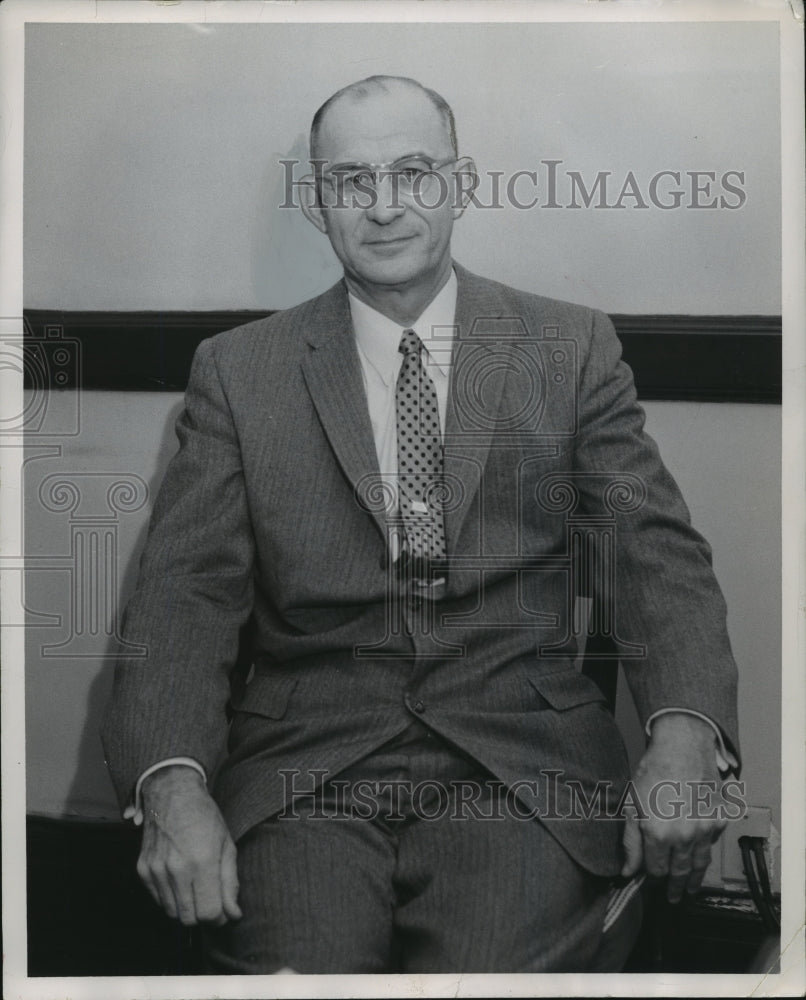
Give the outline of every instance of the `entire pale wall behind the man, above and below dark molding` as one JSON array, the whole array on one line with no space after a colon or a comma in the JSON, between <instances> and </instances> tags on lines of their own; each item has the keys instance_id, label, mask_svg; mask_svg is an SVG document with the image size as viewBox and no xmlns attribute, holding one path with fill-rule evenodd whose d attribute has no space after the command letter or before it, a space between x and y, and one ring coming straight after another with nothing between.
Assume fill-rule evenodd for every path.
<instances>
[{"instance_id":1,"label":"entire pale wall behind the man, above and below dark molding","mask_svg":"<svg viewBox=\"0 0 806 1000\"><path fill-rule=\"evenodd\" d=\"M329 93L384 71L418 76L448 97L462 150L482 170L537 170L541 206L545 159L579 171L589 186L611 171L620 187L632 170L644 191L663 169L744 171L746 201L735 210L469 211L455 238L467 266L613 312L776 314L775 31L760 24L29 26L26 306L277 308L326 287L338 276L329 248L298 213L276 207L278 161L304 156L307 122ZM82 482L94 492L81 514L98 519L104 491L121 476L149 486L144 506L104 514L103 530L116 533L108 579L124 601L175 446L180 399L55 394L54 426L69 424L77 400L80 429L60 439L60 454L28 454L25 532L29 554L42 563L28 573L26 603L62 616L60 625L27 635L28 807L111 816L97 739L111 670L97 653L109 644L98 633L78 655L43 649L69 635L76 512L46 509L38 491L59 472L91 473ZM777 813L780 411L653 403L647 412L695 524L713 544L728 599L748 798ZM637 753L641 738L627 703L619 714Z\"/></svg>"}]
</instances>

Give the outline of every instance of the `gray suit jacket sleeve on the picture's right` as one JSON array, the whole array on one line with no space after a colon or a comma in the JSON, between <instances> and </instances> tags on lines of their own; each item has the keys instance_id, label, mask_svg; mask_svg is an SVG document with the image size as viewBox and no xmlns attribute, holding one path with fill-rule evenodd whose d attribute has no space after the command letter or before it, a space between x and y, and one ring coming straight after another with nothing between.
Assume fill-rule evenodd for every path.
<instances>
[{"instance_id":1,"label":"gray suit jacket sleeve on the picture's right","mask_svg":"<svg viewBox=\"0 0 806 1000\"><path fill-rule=\"evenodd\" d=\"M644 431L632 372L603 313L593 313L579 385L575 467L583 506L615 518L614 593L604 596L612 600L617 638L645 647L643 657L621 658L638 713L644 723L662 709L702 713L738 759L737 670L711 550ZM625 503L612 503L618 488L611 494L611 508L623 511L603 510L607 479L627 484Z\"/></svg>"}]
</instances>

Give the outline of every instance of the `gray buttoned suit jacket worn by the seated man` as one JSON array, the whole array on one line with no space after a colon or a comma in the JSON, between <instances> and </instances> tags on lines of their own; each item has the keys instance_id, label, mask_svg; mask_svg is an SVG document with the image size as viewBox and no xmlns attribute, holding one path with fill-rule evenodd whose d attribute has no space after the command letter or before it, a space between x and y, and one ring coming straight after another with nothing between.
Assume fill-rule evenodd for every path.
<instances>
[{"instance_id":1,"label":"gray buttoned suit jacket worn by the seated man","mask_svg":"<svg viewBox=\"0 0 806 1000\"><path fill-rule=\"evenodd\" d=\"M282 807L281 770L301 784L335 774L416 712L503 781L535 782L524 802L548 809L581 864L614 874L618 823L568 818L575 794L606 786L612 806L628 777L604 699L573 664L572 566L593 544L603 627L641 717L692 708L738 752L710 551L643 432L612 324L456 270L450 570L413 637L400 618L422 609L390 597L344 283L199 346L123 623L148 657L121 655L103 727L121 803L156 761L191 756L212 774L226 744L214 794L237 840ZM248 620L254 677L228 724Z\"/></svg>"}]
</instances>

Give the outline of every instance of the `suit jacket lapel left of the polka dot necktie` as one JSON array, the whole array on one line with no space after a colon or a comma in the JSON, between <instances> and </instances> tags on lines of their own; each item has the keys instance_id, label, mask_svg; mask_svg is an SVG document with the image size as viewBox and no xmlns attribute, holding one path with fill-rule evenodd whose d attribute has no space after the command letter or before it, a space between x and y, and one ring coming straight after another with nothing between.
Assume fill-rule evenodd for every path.
<instances>
[{"instance_id":1,"label":"suit jacket lapel left of the polka dot necktie","mask_svg":"<svg viewBox=\"0 0 806 1000\"><path fill-rule=\"evenodd\" d=\"M322 297L305 336L310 353L302 371L308 392L339 465L385 539L378 456L343 282Z\"/></svg>"}]
</instances>

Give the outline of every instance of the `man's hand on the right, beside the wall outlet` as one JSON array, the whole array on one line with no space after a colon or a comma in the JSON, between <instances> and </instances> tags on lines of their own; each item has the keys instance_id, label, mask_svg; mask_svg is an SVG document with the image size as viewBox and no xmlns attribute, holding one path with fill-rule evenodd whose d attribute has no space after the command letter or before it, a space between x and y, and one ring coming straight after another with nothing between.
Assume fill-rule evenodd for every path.
<instances>
[{"instance_id":1,"label":"man's hand on the right, beside the wall outlet","mask_svg":"<svg viewBox=\"0 0 806 1000\"><path fill-rule=\"evenodd\" d=\"M621 874L634 875L643 862L649 875L668 875L676 903L699 889L726 826L713 728L684 712L658 716L632 780L642 813L627 817Z\"/></svg>"}]
</instances>

